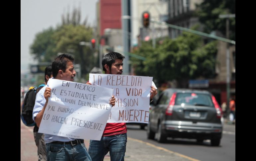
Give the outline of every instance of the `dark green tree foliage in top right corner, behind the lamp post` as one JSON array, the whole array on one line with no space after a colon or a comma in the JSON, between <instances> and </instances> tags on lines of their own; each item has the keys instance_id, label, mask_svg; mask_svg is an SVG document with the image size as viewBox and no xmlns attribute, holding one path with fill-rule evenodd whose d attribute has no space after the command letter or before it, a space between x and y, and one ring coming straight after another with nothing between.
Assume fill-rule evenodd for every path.
<instances>
[{"instance_id":1,"label":"dark green tree foliage in top right corner, behind the lamp post","mask_svg":"<svg viewBox=\"0 0 256 161\"><path fill-rule=\"evenodd\" d=\"M218 30L226 35L226 20L221 14L235 14L235 0L204 0L197 6L199 21L204 24L204 32ZM229 19L229 39L235 40L235 18Z\"/></svg>"}]
</instances>

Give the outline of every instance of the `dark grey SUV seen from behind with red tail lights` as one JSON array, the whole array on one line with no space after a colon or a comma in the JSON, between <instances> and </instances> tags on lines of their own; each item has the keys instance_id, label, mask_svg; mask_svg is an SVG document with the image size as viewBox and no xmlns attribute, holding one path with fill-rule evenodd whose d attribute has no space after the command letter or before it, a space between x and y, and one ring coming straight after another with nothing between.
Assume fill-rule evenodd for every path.
<instances>
[{"instance_id":1,"label":"dark grey SUV seen from behind with red tail lights","mask_svg":"<svg viewBox=\"0 0 256 161\"><path fill-rule=\"evenodd\" d=\"M147 137L165 142L167 137L211 140L219 146L222 111L215 97L205 90L164 90L149 115Z\"/></svg>"}]
</instances>

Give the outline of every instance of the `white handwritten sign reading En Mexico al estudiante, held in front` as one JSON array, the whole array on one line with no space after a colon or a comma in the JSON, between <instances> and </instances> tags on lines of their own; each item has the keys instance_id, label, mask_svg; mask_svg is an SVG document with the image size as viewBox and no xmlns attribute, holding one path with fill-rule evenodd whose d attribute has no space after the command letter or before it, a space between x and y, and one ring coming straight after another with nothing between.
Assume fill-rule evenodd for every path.
<instances>
[{"instance_id":1,"label":"white handwritten sign reading En Mexico al estudiante, held in front","mask_svg":"<svg viewBox=\"0 0 256 161\"><path fill-rule=\"evenodd\" d=\"M83 83L49 79L51 97L40 133L100 140L111 111L113 90Z\"/></svg>"}]
</instances>

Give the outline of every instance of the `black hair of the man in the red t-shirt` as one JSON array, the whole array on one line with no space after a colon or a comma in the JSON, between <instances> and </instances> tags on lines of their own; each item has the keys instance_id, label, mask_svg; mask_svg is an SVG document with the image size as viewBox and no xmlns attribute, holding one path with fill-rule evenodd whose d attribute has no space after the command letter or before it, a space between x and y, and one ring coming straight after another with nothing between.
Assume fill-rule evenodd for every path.
<instances>
[{"instance_id":1,"label":"black hair of the man in the red t-shirt","mask_svg":"<svg viewBox=\"0 0 256 161\"><path fill-rule=\"evenodd\" d=\"M104 67L105 64L107 64L107 66L109 66L109 68L111 69L111 65L116 61L116 59L124 60L124 58L125 56L123 56L119 52L110 52L106 54L102 58L101 62L103 70L106 71L106 68Z\"/></svg>"}]
</instances>

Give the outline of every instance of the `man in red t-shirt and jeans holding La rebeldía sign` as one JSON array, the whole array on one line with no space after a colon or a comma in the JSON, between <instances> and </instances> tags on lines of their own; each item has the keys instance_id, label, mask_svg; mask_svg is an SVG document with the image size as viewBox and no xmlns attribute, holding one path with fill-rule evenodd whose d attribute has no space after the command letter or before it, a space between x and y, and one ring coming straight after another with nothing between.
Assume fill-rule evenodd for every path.
<instances>
[{"instance_id":1,"label":"man in red t-shirt and jeans holding La rebeld\u00eda sign","mask_svg":"<svg viewBox=\"0 0 256 161\"><path fill-rule=\"evenodd\" d=\"M102 59L102 67L105 74L122 74L123 59L125 57L118 52L110 52ZM151 86L150 99L157 94L154 86ZM111 161L124 161L127 142L126 123L107 123L101 140L90 140L89 154L92 161L103 161L104 156L110 154Z\"/></svg>"}]
</instances>

